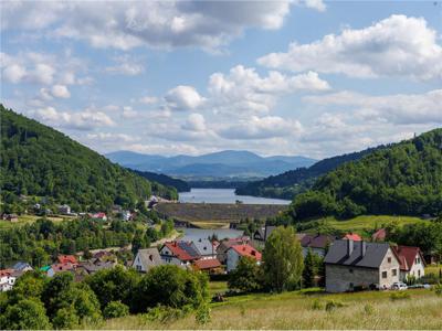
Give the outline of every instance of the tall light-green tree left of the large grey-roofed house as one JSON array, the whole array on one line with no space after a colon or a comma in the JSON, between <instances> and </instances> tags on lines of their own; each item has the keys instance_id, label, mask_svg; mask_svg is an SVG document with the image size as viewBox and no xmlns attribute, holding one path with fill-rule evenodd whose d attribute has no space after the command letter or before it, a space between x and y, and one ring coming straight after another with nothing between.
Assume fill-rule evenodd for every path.
<instances>
[{"instance_id":1,"label":"tall light-green tree left of the large grey-roofed house","mask_svg":"<svg viewBox=\"0 0 442 331\"><path fill-rule=\"evenodd\" d=\"M303 268L303 250L293 227L276 227L265 243L263 253L266 287L277 292L297 287Z\"/></svg>"}]
</instances>

